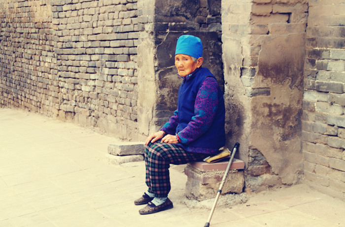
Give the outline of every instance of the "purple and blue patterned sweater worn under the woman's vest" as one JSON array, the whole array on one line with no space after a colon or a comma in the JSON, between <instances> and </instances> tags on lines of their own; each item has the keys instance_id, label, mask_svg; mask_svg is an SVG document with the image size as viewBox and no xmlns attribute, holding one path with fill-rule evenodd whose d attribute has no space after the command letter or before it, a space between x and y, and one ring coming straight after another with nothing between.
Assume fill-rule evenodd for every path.
<instances>
[{"instance_id":1,"label":"purple and blue patterned sweater worn under the woman's vest","mask_svg":"<svg viewBox=\"0 0 345 227\"><path fill-rule=\"evenodd\" d=\"M183 80L189 80L190 75L186 76ZM215 111L218 107L218 91L217 81L212 77L207 77L201 85L194 105L195 115L192 120L188 123L177 136L181 143L178 145L182 146L185 150L195 153L205 154L216 154L219 147L215 148L204 148L204 147L191 147L188 143L195 141L205 132L206 128L212 125ZM203 114L200 114L203 113ZM169 121L162 127L161 130L167 134L174 135L178 124L178 110L176 110Z\"/></svg>"}]
</instances>

